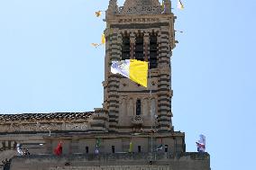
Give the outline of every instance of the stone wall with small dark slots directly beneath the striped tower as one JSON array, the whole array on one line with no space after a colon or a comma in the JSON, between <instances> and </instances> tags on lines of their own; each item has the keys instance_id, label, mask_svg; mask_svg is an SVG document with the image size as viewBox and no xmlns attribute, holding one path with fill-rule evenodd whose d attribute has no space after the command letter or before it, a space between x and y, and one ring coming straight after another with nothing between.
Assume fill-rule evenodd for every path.
<instances>
[{"instance_id":1,"label":"stone wall with small dark slots directly beneath the striped tower","mask_svg":"<svg viewBox=\"0 0 256 170\"><path fill-rule=\"evenodd\" d=\"M185 134L181 132L153 134L152 148L155 150L160 146L160 144L162 144L164 148L168 149L168 152L186 152L184 136ZM95 153L96 149L96 139L101 139L99 148L100 153L112 153L112 148L114 148L114 152L128 152L130 142L133 143L133 152L151 152L150 133L142 133L137 135L105 133L87 134L84 136L73 134L72 136L52 136L45 137L44 139L46 143L45 147L47 148L46 153L52 153L52 150L56 148L61 140L63 154L87 153L86 148L88 149L89 154L93 154ZM141 148L141 150L139 151L138 148ZM165 149L162 149L159 152L165 152Z\"/></svg>"}]
</instances>

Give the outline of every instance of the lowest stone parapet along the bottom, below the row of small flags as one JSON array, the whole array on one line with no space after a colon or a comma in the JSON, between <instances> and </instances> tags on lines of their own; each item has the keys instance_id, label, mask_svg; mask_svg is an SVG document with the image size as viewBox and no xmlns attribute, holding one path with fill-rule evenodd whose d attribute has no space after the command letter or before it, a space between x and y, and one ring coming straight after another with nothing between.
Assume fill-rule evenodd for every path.
<instances>
[{"instance_id":1,"label":"lowest stone parapet along the bottom, below the row of small flags","mask_svg":"<svg viewBox=\"0 0 256 170\"><path fill-rule=\"evenodd\" d=\"M96 170L96 169L171 169L210 170L210 156L207 153L128 153L89 154L67 157L30 156L14 157L11 170Z\"/></svg>"}]
</instances>

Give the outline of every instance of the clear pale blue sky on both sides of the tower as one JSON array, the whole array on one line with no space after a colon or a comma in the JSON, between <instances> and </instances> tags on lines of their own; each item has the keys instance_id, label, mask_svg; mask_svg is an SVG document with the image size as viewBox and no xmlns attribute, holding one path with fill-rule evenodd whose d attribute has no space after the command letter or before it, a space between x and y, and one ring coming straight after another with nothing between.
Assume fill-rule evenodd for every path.
<instances>
[{"instance_id":1,"label":"clear pale blue sky on both sides of the tower","mask_svg":"<svg viewBox=\"0 0 256 170\"><path fill-rule=\"evenodd\" d=\"M123 5L123 1L118 1ZM177 1L172 1L176 6ZM183 1L172 57L175 130L206 135L213 170L253 169L256 2ZM103 103L107 0L0 0L0 113L84 112Z\"/></svg>"}]
</instances>

